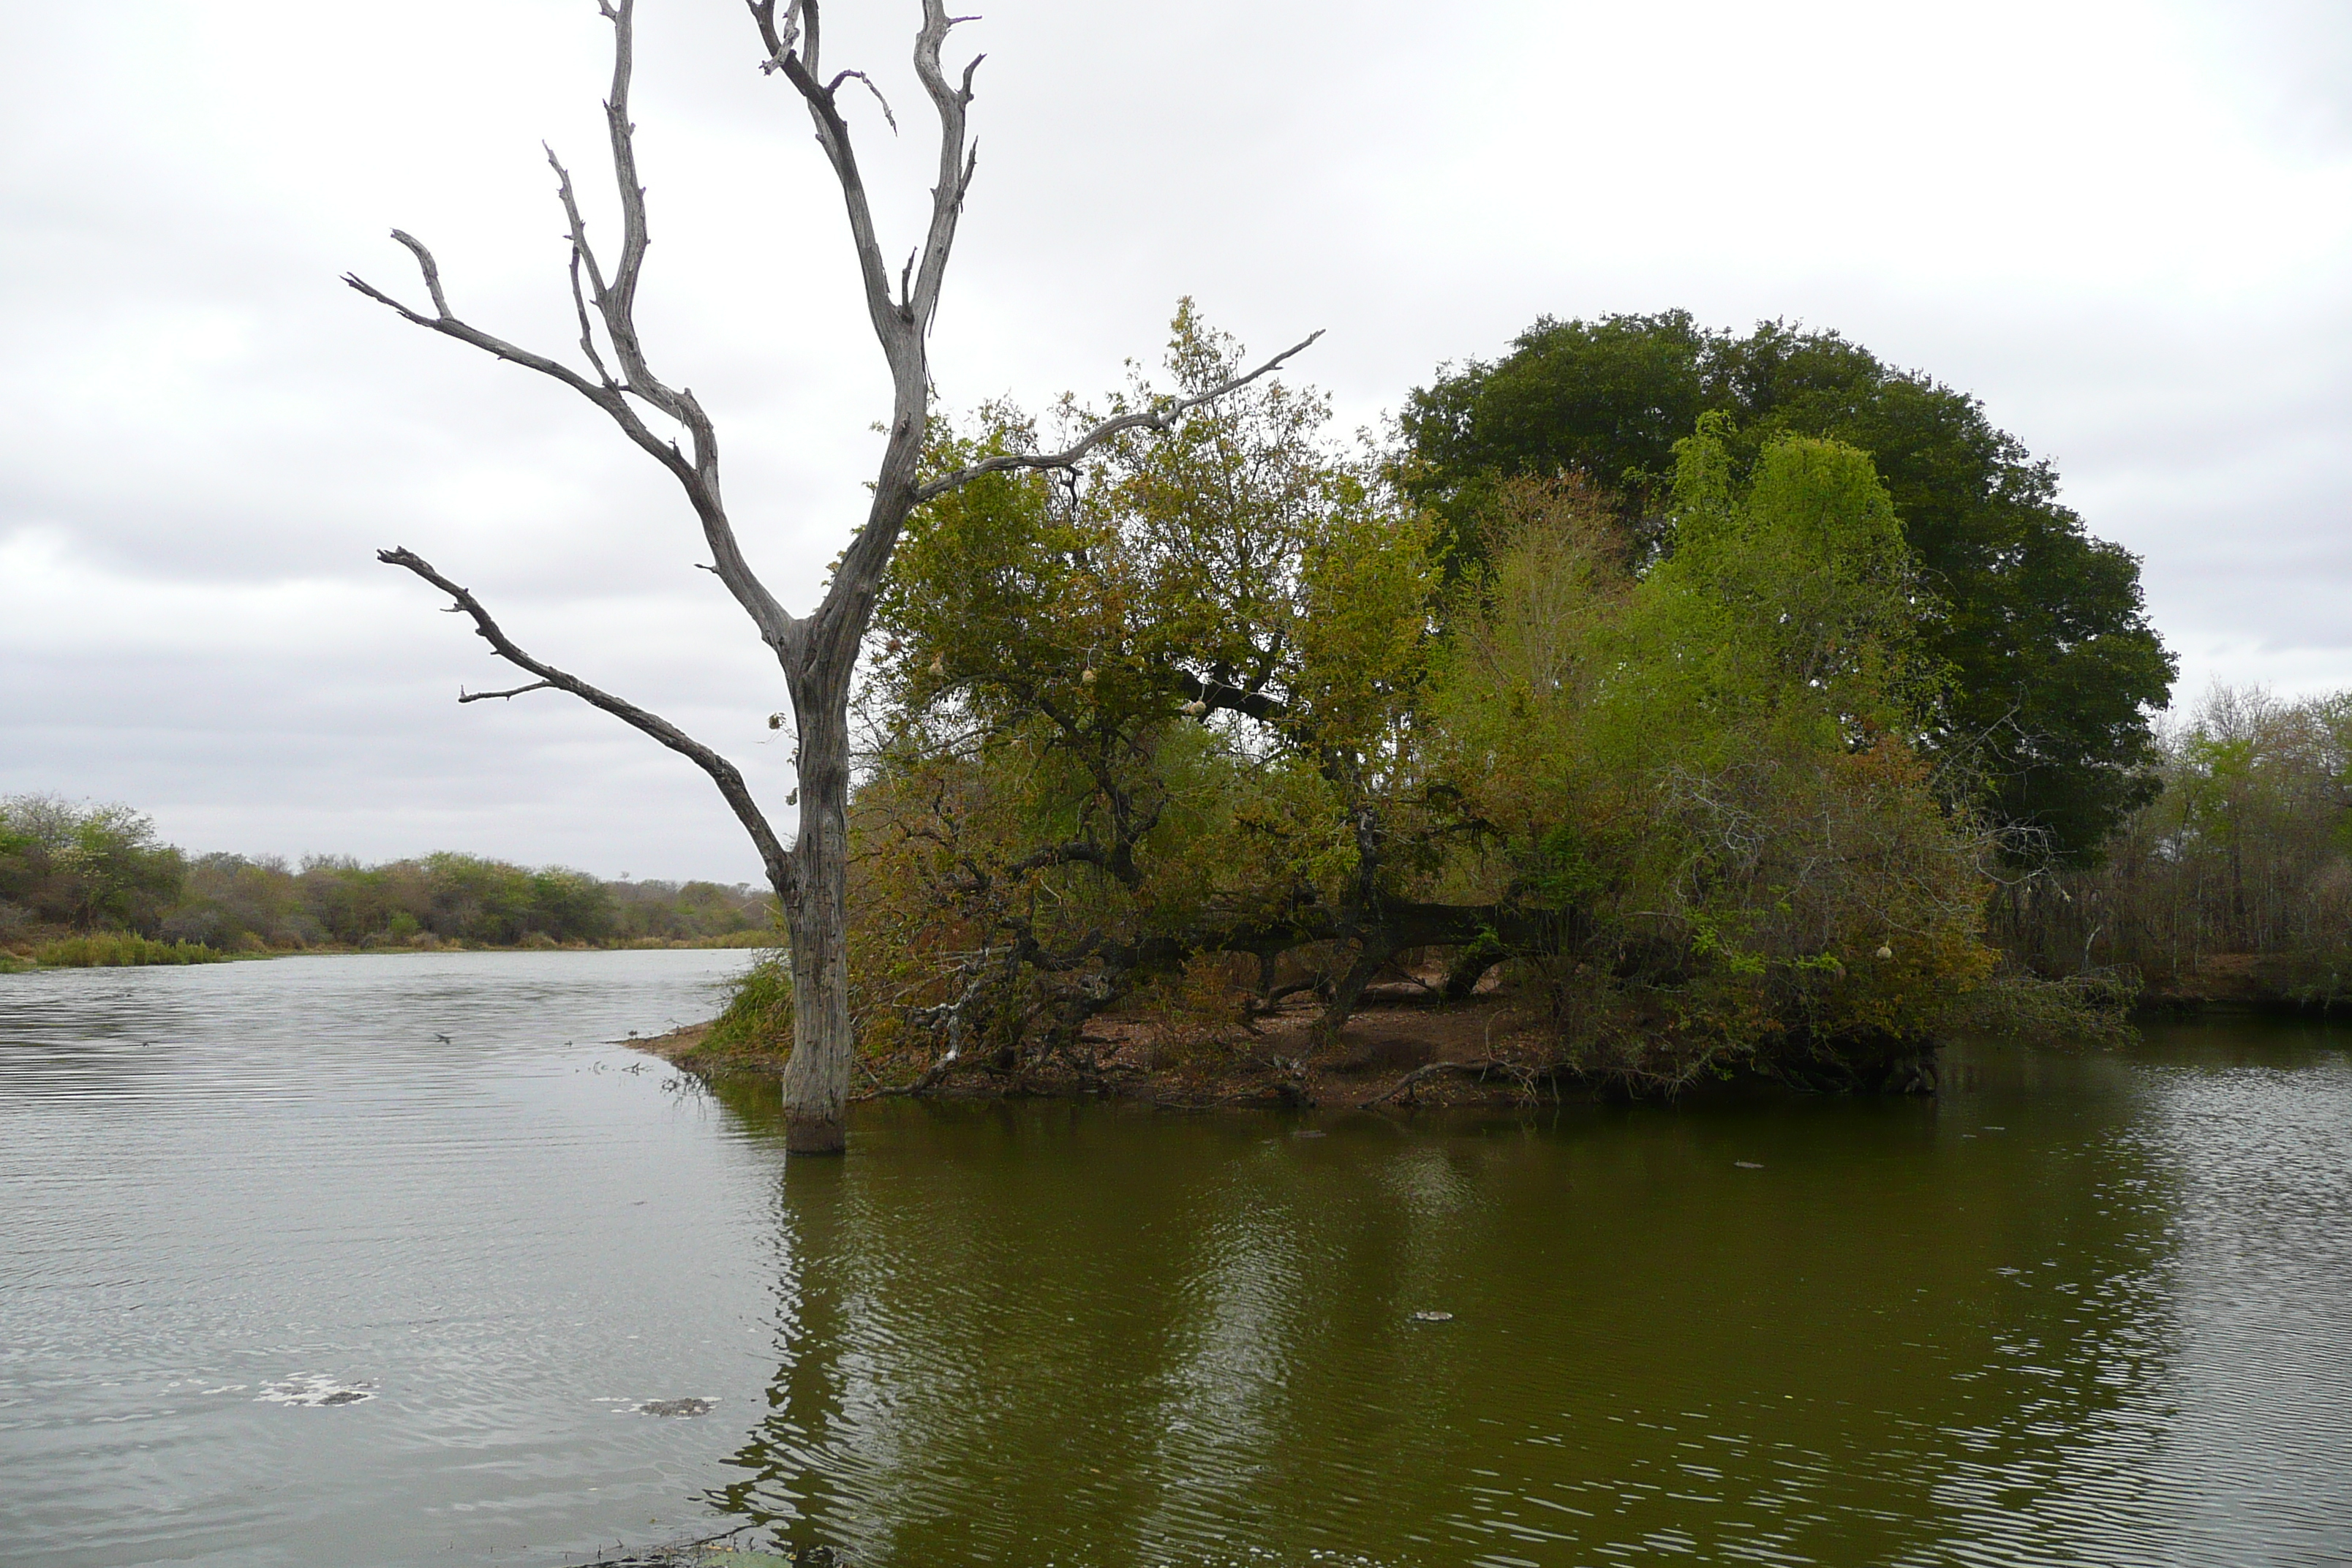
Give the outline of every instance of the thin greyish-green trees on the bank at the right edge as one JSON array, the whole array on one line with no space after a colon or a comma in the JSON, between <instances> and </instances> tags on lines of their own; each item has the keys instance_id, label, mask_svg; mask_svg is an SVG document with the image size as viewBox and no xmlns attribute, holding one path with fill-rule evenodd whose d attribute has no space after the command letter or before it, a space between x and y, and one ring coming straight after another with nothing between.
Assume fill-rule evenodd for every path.
<instances>
[{"instance_id":1,"label":"thin greyish-green trees on the bank at the right edge","mask_svg":"<svg viewBox=\"0 0 2352 1568\"><path fill-rule=\"evenodd\" d=\"M2042 973L2352 997L2352 691L2216 689L2157 733L2150 783L2091 865L1994 896L1992 936Z\"/></svg>"}]
</instances>

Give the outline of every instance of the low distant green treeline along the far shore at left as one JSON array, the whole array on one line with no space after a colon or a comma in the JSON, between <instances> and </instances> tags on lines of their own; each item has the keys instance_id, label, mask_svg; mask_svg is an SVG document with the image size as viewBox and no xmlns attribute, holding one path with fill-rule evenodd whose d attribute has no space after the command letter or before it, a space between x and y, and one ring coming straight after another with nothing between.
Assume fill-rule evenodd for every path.
<instances>
[{"instance_id":1,"label":"low distant green treeline along the far shore at left","mask_svg":"<svg viewBox=\"0 0 2352 1568\"><path fill-rule=\"evenodd\" d=\"M49 795L0 799L0 947L134 933L221 952L303 947L757 945L771 898L717 882L600 882L435 853L360 865L348 856L188 856L129 806Z\"/></svg>"}]
</instances>

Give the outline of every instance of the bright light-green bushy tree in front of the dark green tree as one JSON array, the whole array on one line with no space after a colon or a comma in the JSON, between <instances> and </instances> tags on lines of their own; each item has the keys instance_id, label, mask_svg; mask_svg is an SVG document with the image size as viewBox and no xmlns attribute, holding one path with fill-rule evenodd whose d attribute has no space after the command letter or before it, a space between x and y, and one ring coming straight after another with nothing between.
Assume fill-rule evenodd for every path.
<instances>
[{"instance_id":1,"label":"bright light-green bushy tree in front of the dark green tree","mask_svg":"<svg viewBox=\"0 0 2352 1568\"><path fill-rule=\"evenodd\" d=\"M1491 835L1454 875L1559 914L1585 1072L1877 1081L1990 973L1983 837L1910 741L1936 670L1870 461L1780 437L1736 482L1724 437L1682 442L1639 574L1592 491L1496 487L1428 703Z\"/></svg>"}]
</instances>

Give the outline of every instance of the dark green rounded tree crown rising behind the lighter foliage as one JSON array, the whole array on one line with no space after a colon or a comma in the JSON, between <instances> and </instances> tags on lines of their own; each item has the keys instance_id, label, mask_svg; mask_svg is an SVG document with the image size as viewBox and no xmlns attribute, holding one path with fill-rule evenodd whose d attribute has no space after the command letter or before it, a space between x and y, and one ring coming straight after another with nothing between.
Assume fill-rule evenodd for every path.
<instances>
[{"instance_id":1,"label":"dark green rounded tree crown rising behind the lighter foliage","mask_svg":"<svg viewBox=\"0 0 2352 1568\"><path fill-rule=\"evenodd\" d=\"M2058 475L1976 397L1889 367L1835 331L1766 322L1748 336L1689 313L1538 320L1496 362L1442 369L1404 411L1406 489L1475 555L1477 515L1519 475L1581 473L1658 541L1675 442L1731 416L1748 473L1788 435L1870 454L1943 602L1926 651L1950 670L1931 750L1983 780L1997 820L2093 858L2152 788L2150 710L2176 665L2140 597L2138 559L2093 538Z\"/></svg>"}]
</instances>

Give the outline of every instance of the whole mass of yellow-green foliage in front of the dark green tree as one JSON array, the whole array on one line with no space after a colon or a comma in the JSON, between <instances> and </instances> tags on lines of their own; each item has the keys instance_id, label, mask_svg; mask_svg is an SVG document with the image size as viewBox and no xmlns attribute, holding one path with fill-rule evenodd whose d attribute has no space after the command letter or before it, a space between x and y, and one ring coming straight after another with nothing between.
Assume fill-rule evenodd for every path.
<instances>
[{"instance_id":1,"label":"whole mass of yellow-green foliage in front of the dark green tree","mask_svg":"<svg viewBox=\"0 0 2352 1568\"><path fill-rule=\"evenodd\" d=\"M1235 364L1185 310L1171 388L1110 411ZM1943 684L1870 458L1693 418L1642 550L1581 480L1442 524L1324 423L1258 383L910 522L854 811L868 1044L1070 1051L1230 957L1338 1027L1437 950L1522 966L1550 1070L1917 1072L1990 969L1985 837L1915 748ZM995 407L931 461L1037 444Z\"/></svg>"}]
</instances>

